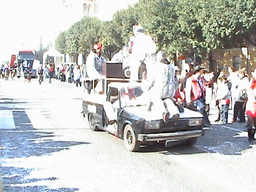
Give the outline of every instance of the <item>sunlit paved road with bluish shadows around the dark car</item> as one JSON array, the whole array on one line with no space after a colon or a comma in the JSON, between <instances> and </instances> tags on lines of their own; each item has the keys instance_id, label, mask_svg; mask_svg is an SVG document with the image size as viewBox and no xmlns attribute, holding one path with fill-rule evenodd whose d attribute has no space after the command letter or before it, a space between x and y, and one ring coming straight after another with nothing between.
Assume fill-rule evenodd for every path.
<instances>
[{"instance_id":1,"label":"sunlit paved road with bluish shadows around the dark car","mask_svg":"<svg viewBox=\"0 0 256 192\"><path fill-rule=\"evenodd\" d=\"M54 80L0 80L0 192L255 191L245 123L212 125L192 148L128 152L122 140L89 129L83 94ZM210 113L213 121L213 106Z\"/></svg>"}]
</instances>

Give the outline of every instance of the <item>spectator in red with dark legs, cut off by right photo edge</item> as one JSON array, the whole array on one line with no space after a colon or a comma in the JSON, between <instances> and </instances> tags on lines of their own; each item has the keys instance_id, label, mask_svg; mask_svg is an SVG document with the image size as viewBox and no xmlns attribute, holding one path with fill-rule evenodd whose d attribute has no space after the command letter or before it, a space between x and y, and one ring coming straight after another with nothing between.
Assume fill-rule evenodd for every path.
<instances>
[{"instance_id":1,"label":"spectator in red with dark legs, cut off by right photo edge","mask_svg":"<svg viewBox=\"0 0 256 192\"><path fill-rule=\"evenodd\" d=\"M254 72L252 72L252 80L250 82L250 88L246 90L248 99L246 100L246 114L248 117L248 126L247 126L247 132L248 132L248 139L254 140L255 135L255 128L253 129L252 124L254 127L256 126L256 69L254 69Z\"/></svg>"}]
</instances>

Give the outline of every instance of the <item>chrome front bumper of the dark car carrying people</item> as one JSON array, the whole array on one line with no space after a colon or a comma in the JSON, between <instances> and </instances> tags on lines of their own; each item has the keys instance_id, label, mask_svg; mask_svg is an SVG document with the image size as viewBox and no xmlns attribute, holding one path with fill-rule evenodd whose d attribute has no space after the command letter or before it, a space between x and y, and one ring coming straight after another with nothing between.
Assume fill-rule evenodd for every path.
<instances>
[{"instance_id":1,"label":"chrome front bumper of the dark car carrying people","mask_svg":"<svg viewBox=\"0 0 256 192\"><path fill-rule=\"evenodd\" d=\"M180 131L172 133L154 133L154 134L138 134L138 141L153 142L166 140L186 140L190 138L198 138L204 135L204 130Z\"/></svg>"}]
</instances>

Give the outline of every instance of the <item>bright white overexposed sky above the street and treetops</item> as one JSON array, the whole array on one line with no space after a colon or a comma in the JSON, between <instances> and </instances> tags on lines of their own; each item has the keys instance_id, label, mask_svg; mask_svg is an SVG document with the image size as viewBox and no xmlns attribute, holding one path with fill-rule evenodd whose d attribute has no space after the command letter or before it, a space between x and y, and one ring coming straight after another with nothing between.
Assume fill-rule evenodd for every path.
<instances>
[{"instance_id":1,"label":"bright white overexposed sky above the street and treetops","mask_svg":"<svg viewBox=\"0 0 256 192\"><path fill-rule=\"evenodd\" d=\"M0 63L10 60L20 48L39 49L54 43L62 26L60 0L0 0ZM98 17L111 20L113 14L138 0L98 0ZM63 24L63 22L62 22Z\"/></svg>"}]
</instances>

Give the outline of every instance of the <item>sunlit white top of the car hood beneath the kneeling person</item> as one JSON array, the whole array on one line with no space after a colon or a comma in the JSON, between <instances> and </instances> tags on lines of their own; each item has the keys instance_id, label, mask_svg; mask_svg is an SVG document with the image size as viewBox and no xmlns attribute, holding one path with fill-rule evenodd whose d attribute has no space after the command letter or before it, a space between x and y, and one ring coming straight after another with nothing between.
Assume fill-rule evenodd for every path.
<instances>
[{"instance_id":1,"label":"sunlit white top of the car hood beneath the kneeling person","mask_svg":"<svg viewBox=\"0 0 256 192\"><path fill-rule=\"evenodd\" d=\"M154 111L148 112L147 106L135 106L135 107L124 107L129 113L144 118L146 121L161 120L163 118L162 112ZM182 118L202 118L203 115L199 112L184 108L184 112L180 113L180 119ZM170 116L170 119L172 117Z\"/></svg>"}]
</instances>

